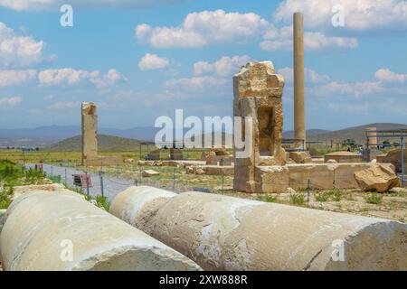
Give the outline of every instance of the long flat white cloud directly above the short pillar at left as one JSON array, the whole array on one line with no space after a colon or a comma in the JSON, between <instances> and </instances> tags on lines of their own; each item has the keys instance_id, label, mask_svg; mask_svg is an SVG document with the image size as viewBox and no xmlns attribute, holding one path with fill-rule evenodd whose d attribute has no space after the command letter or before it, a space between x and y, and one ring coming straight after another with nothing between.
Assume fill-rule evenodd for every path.
<instances>
[{"instance_id":1,"label":"long flat white cloud directly above the short pillar at left","mask_svg":"<svg viewBox=\"0 0 407 289\"><path fill-rule=\"evenodd\" d=\"M115 85L126 78L117 70L109 70L100 75L99 70L73 70L71 68L58 70L43 70L38 73L38 81L43 85L74 85L82 81L90 81L99 89Z\"/></svg>"}]
</instances>

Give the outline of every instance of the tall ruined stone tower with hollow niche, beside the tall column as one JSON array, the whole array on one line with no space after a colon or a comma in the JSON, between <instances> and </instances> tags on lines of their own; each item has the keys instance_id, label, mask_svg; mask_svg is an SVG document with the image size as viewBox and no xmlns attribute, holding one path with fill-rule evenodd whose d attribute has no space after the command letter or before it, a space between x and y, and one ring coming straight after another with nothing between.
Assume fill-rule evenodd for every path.
<instances>
[{"instance_id":1,"label":"tall ruined stone tower with hollow niche, beside the tall column","mask_svg":"<svg viewBox=\"0 0 407 289\"><path fill-rule=\"evenodd\" d=\"M271 61L249 62L233 77L233 86L233 114L235 117L251 117L253 132L247 157L235 158L233 187L254 192L257 166L286 163L286 153L281 146L284 79L275 73ZM235 155L240 150L236 152Z\"/></svg>"}]
</instances>

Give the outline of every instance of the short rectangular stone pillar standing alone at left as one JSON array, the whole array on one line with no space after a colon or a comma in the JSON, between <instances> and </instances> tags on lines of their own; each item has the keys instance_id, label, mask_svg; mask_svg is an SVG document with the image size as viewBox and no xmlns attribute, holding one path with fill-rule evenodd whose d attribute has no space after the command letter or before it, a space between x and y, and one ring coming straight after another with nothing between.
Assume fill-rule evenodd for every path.
<instances>
[{"instance_id":1,"label":"short rectangular stone pillar standing alone at left","mask_svg":"<svg viewBox=\"0 0 407 289\"><path fill-rule=\"evenodd\" d=\"M82 102L82 165L98 158L98 116L93 102Z\"/></svg>"}]
</instances>

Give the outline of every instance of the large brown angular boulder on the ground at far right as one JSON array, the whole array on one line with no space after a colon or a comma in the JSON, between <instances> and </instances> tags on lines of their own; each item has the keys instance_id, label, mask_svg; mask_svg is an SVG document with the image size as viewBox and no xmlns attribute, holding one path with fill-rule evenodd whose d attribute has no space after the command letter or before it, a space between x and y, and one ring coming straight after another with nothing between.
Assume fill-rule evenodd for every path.
<instances>
[{"instance_id":1,"label":"large brown angular boulder on the ground at far right","mask_svg":"<svg viewBox=\"0 0 407 289\"><path fill-rule=\"evenodd\" d=\"M386 165L374 165L355 172L355 180L364 191L385 192L400 186L399 177Z\"/></svg>"}]
</instances>

